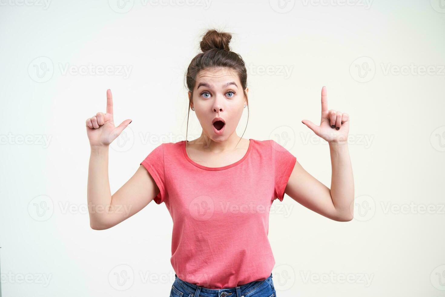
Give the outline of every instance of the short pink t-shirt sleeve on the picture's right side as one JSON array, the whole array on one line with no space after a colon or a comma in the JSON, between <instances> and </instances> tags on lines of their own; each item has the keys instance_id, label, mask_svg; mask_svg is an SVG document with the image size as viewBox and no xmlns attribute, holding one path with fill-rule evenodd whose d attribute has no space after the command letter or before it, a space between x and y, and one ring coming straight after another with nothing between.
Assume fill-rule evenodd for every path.
<instances>
[{"instance_id":1,"label":"short pink t-shirt sleeve on the picture's right side","mask_svg":"<svg viewBox=\"0 0 445 297\"><path fill-rule=\"evenodd\" d=\"M291 176L297 158L275 140L271 140L272 160L275 167L275 199L283 201L284 189Z\"/></svg>"}]
</instances>

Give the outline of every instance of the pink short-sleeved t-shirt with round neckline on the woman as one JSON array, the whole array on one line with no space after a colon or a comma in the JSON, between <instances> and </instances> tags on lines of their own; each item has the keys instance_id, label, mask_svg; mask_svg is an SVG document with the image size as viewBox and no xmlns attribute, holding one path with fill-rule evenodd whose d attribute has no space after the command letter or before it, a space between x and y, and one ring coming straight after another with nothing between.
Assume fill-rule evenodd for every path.
<instances>
[{"instance_id":1,"label":"pink short-sleeved t-shirt with round neckline on the woman","mask_svg":"<svg viewBox=\"0 0 445 297\"><path fill-rule=\"evenodd\" d=\"M269 232L273 200L283 201L296 158L274 140L250 139L246 155L206 167L185 140L162 143L142 161L173 219L170 262L183 281L208 289L263 281L275 265Z\"/></svg>"}]
</instances>

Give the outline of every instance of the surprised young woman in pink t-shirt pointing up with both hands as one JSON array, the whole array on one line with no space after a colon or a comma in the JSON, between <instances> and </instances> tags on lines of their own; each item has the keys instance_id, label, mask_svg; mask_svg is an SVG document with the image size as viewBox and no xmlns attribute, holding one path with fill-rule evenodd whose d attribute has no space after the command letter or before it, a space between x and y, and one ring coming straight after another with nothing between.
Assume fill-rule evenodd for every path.
<instances>
[{"instance_id":1,"label":"surprised young woman in pink t-shirt pointing up with both hands","mask_svg":"<svg viewBox=\"0 0 445 297\"><path fill-rule=\"evenodd\" d=\"M153 199L164 202L173 219L172 297L276 296L268 220L272 202L282 201L284 193L332 220L350 221L353 216L348 114L328 110L323 87L320 126L302 121L329 142L331 189L274 140L239 137L235 129L249 106L247 73L243 59L229 48L230 40L229 33L207 31L202 53L187 69L189 113L196 113L201 136L156 147L113 195L108 147L131 120L114 126L107 90L106 113L86 121L91 147L88 202L110 207L106 213L90 212L90 226L111 228ZM122 205L129 213L114 211Z\"/></svg>"}]
</instances>

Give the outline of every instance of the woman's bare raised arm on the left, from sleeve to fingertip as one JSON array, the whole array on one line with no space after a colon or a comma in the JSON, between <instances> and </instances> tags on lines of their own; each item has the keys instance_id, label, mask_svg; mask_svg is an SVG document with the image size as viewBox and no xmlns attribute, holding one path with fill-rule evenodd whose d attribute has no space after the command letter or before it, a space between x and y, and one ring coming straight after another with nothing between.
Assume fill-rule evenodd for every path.
<instances>
[{"instance_id":1,"label":"woman's bare raised arm on the left, from sleeve to fingertip","mask_svg":"<svg viewBox=\"0 0 445 297\"><path fill-rule=\"evenodd\" d=\"M107 90L106 113L97 113L86 120L91 153L88 168L87 200L90 227L103 230L119 224L139 212L159 193L154 179L140 165L134 175L111 195L108 178L108 151L122 130L129 125L127 119L115 127L113 97Z\"/></svg>"}]
</instances>

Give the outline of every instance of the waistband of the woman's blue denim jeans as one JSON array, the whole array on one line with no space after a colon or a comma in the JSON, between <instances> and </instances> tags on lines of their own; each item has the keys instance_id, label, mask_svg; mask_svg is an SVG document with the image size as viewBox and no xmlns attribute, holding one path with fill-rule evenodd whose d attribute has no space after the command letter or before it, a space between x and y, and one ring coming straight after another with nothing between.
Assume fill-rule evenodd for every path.
<instances>
[{"instance_id":1,"label":"waistband of the woman's blue denim jeans","mask_svg":"<svg viewBox=\"0 0 445 297\"><path fill-rule=\"evenodd\" d=\"M253 291L254 289L258 288L260 285L263 285L263 283L265 281L270 281L271 282L271 278L272 278L272 273L269 277L267 277L267 279L263 280L263 281L251 281L250 283L244 284L244 285L240 285L234 288L226 288L226 289L207 289L201 286L197 286L194 284L191 284L187 281L183 281L182 279L180 279L178 277L178 275L175 273L174 274L175 278L176 278L176 282L178 282L178 284L182 287L182 289L186 290L187 292L189 292L190 294L194 294L196 292L198 292L198 288L199 288L199 296L200 297L207 297L207 296L220 296L220 293L226 292L227 294L231 295L231 297L237 297L237 293L241 295L246 295L247 293Z\"/></svg>"}]
</instances>

